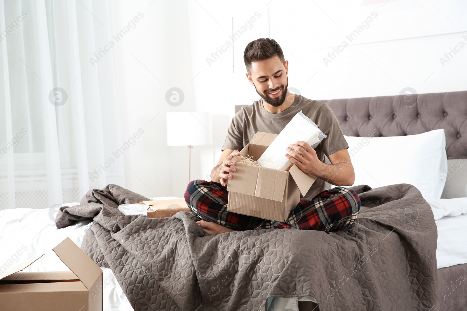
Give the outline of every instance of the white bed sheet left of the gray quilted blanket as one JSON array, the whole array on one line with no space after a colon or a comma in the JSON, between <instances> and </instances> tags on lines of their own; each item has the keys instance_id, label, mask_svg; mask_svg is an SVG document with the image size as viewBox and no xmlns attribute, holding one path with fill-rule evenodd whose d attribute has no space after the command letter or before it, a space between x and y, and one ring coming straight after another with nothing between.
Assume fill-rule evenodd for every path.
<instances>
[{"instance_id":1,"label":"white bed sheet left of the gray quilted blanket","mask_svg":"<svg viewBox=\"0 0 467 311\"><path fill-rule=\"evenodd\" d=\"M79 203L66 205L77 204ZM57 214L56 210L50 208L15 208L0 211L0 276L6 268L5 265L10 267L40 254L45 256L24 271L69 270L52 248L67 237L80 246L92 222L79 221L73 226L57 229L51 219L55 217L54 214ZM133 311L112 270L101 269L104 272L103 310Z\"/></svg>"}]
</instances>

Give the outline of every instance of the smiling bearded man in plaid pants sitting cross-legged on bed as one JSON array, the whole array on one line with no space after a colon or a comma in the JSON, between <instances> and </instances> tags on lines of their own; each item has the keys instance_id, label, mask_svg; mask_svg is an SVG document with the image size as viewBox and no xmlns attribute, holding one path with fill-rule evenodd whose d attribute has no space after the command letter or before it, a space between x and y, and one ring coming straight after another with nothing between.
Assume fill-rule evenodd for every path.
<instances>
[{"instance_id":1,"label":"smiling bearded man in plaid pants sitting cross-legged on bed","mask_svg":"<svg viewBox=\"0 0 467 311\"><path fill-rule=\"evenodd\" d=\"M200 219L198 225L208 235L265 228L323 231L349 228L360 210L358 195L345 187L325 190L325 181L337 186L351 186L355 179L348 145L333 111L323 102L287 90L289 62L284 61L282 49L275 40L257 39L248 43L243 59L248 81L261 99L242 107L233 117L219 163L211 173L212 181L193 180L188 185L185 200ZM308 193L302 196L285 222L227 211L225 184L226 180L235 178L233 157L240 155L238 151L257 131L279 134L301 110L327 135L315 149L304 141L297 141L284 150L284 156L302 171L318 177ZM323 163L325 155L331 165Z\"/></svg>"}]
</instances>

